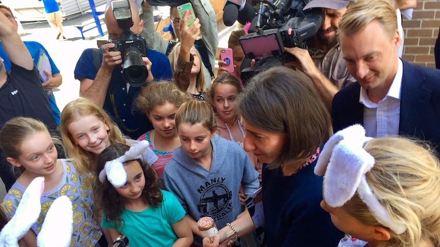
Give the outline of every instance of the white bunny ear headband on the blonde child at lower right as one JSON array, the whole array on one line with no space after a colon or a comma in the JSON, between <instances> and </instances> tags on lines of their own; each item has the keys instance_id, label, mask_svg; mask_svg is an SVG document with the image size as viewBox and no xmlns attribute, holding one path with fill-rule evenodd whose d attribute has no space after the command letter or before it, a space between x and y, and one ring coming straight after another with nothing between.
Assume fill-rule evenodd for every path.
<instances>
[{"instance_id":1,"label":"white bunny ear headband on the blonde child at lower right","mask_svg":"<svg viewBox=\"0 0 440 247\"><path fill-rule=\"evenodd\" d=\"M363 149L371 139L361 125L336 132L325 144L314 173L325 174L324 198L329 206L343 206L357 191L380 224L401 234L406 226L393 222L365 179L365 173L375 164L374 157Z\"/></svg>"}]
</instances>

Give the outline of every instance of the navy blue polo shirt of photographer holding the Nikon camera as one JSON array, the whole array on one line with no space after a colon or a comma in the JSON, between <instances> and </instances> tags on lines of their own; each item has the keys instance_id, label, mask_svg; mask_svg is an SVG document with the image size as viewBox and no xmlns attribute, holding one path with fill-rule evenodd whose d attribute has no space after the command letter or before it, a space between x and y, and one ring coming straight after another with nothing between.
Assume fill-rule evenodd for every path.
<instances>
[{"instance_id":1,"label":"navy blue polo shirt of photographer holding the Nikon camera","mask_svg":"<svg viewBox=\"0 0 440 247\"><path fill-rule=\"evenodd\" d=\"M164 54L149 48L148 58L152 63L151 73L156 80L171 79L171 65ZM91 48L83 51L74 72L75 79L79 80L84 77L91 80L95 79L97 71L94 68L93 51ZM122 67L115 66L110 79L110 85L107 89L103 109L112 117L119 129L134 140L153 129L153 125L145 114L136 112L133 109L134 101L139 92L140 87L129 87L127 89L127 81Z\"/></svg>"}]
</instances>

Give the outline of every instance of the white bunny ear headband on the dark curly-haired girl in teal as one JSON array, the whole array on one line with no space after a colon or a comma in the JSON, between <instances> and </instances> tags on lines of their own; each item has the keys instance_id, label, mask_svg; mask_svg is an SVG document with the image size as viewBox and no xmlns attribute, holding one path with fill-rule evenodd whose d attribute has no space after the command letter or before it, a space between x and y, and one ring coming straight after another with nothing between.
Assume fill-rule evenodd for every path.
<instances>
[{"instance_id":1,"label":"white bunny ear headband on the dark curly-haired girl in teal","mask_svg":"<svg viewBox=\"0 0 440 247\"><path fill-rule=\"evenodd\" d=\"M143 160L142 154L149 147L148 141L142 141L132 146L123 156L107 161L104 169L100 172L100 181L105 182L106 176L115 187L122 187L127 182L127 173L124 169L124 162L134 159Z\"/></svg>"}]
</instances>

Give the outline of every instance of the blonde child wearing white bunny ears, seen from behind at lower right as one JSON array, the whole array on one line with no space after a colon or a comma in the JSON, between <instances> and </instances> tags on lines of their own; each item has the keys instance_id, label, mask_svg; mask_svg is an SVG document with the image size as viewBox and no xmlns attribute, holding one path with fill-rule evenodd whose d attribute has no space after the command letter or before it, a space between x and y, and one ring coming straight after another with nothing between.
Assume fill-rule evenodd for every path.
<instances>
[{"instance_id":1,"label":"blonde child wearing white bunny ears, seen from behind at lower right","mask_svg":"<svg viewBox=\"0 0 440 247\"><path fill-rule=\"evenodd\" d=\"M363 240L340 246L440 246L440 164L427 144L366 138L353 125L329 139L314 172L325 174L321 206L333 224Z\"/></svg>"}]
</instances>

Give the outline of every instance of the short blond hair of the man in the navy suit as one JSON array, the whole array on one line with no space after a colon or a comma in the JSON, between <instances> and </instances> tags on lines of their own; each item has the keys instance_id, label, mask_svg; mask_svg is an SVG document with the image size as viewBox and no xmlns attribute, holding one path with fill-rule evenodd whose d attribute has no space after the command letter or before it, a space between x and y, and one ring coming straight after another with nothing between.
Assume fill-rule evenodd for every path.
<instances>
[{"instance_id":1,"label":"short blond hair of the man in the navy suit","mask_svg":"<svg viewBox=\"0 0 440 247\"><path fill-rule=\"evenodd\" d=\"M389 38L397 31L396 10L387 0L356 0L339 22L337 35L356 35L372 21L378 21Z\"/></svg>"}]
</instances>

